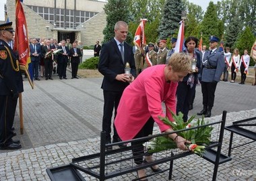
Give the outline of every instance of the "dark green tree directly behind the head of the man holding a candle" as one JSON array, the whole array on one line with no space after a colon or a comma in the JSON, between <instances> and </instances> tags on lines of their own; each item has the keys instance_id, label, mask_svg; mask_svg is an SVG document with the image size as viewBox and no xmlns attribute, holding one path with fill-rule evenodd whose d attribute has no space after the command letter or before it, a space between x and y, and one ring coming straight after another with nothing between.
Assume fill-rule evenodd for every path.
<instances>
[{"instance_id":1,"label":"dark green tree directly behind the head of the man holding a candle","mask_svg":"<svg viewBox=\"0 0 256 181\"><path fill-rule=\"evenodd\" d=\"M103 43L109 42L115 37L114 27L117 21L125 21L129 23L129 11L126 1L108 0L108 3L104 5L104 11L106 13L106 27L103 30ZM129 33L126 42L131 44L132 39L133 38Z\"/></svg>"}]
</instances>

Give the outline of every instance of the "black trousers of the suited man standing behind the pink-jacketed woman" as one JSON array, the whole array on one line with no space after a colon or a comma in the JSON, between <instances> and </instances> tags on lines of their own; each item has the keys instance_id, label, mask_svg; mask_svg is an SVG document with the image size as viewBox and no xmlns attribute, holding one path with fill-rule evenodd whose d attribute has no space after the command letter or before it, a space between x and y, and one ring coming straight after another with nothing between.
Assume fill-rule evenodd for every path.
<instances>
[{"instance_id":1,"label":"black trousers of the suited man standing behind the pink-jacketed woman","mask_svg":"<svg viewBox=\"0 0 256 181\"><path fill-rule=\"evenodd\" d=\"M123 91L103 91L104 96L104 108L103 108L103 118L102 118L102 131L106 131L106 141L111 140L111 120L113 116L113 109L115 108L115 117L117 116L117 107L119 105L119 101L123 95ZM113 124L114 135L113 139L118 139L117 129Z\"/></svg>"}]
</instances>

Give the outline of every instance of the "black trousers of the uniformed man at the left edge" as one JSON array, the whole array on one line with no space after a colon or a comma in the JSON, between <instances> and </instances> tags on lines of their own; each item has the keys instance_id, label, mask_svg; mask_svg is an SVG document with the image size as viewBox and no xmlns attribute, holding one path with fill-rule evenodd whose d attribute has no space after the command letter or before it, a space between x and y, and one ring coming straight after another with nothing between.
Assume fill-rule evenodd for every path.
<instances>
[{"instance_id":1,"label":"black trousers of the uniformed man at the left edge","mask_svg":"<svg viewBox=\"0 0 256 181\"><path fill-rule=\"evenodd\" d=\"M9 145L14 136L11 127L15 116L17 100L9 95L0 95L0 145Z\"/></svg>"}]
</instances>

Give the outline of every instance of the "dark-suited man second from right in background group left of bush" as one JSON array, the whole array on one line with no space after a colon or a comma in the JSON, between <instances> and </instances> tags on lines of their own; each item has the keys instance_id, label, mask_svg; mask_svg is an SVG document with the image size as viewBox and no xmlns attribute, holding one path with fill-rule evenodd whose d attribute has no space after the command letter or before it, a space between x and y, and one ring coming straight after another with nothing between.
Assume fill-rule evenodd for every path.
<instances>
[{"instance_id":1,"label":"dark-suited man second from right in background group left of bush","mask_svg":"<svg viewBox=\"0 0 256 181\"><path fill-rule=\"evenodd\" d=\"M59 56L58 56L58 66L59 66L59 79L67 79L66 70L67 70L67 62L69 57L69 48L65 46L65 40L61 41L61 46L58 47L61 49Z\"/></svg>"}]
</instances>

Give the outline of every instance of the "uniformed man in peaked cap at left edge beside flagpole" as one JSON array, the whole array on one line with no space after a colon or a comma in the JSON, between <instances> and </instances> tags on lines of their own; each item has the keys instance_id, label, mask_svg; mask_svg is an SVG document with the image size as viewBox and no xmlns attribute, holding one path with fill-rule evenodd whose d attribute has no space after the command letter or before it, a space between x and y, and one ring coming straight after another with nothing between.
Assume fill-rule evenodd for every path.
<instances>
[{"instance_id":1,"label":"uniformed man in peaked cap at left edge beside flagpole","mask_svg":"<svg viewBox=\"0 0 256 181\"><path fill-rule=\"evenodd\" d=\"M15 53L7 42L13 40L12 22L0 25L0 149L19 149L11 127L19 93L23 92L22 74Z\"/></svg>"}]
</instances>

